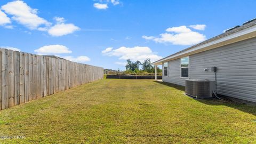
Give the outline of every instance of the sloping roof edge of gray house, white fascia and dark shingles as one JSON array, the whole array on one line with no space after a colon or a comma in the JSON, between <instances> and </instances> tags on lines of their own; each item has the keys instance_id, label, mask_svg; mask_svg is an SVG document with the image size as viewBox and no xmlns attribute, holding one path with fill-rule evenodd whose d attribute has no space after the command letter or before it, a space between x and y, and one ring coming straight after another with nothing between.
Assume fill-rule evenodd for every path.
<instances>
[{"instance_id":1,"label":"sloping roof edge of gray house, white fascia and dark shingles","mask_svg":"<svg viewBox=\"0 0 256 144\"><path fill-rule=\"evenodd\" d=\"M207 39L206 41L203 41L196 45L190 46L187 49L184 49L177 53L171 54L163 59L153 62L152 64L161 65L162 62L185 57L187 55L195 54L206 50L211 50L223 45L235 43L252 37L256 37L256 18L244 22L242 26L230 28L226 30L223 34Z\"/></svg>"}]
</instances>

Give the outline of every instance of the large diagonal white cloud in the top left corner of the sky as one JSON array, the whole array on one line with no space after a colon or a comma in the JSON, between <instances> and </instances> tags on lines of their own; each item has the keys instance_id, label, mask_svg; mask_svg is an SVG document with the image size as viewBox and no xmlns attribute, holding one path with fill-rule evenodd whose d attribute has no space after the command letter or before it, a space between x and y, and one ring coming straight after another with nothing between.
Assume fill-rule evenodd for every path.
<instances>
[{"instance_id":1,"label":"large diagonal white cloud in the top left corner of the sky","mask_svg":"<svg viewBox=\"0 0 256 144\"><path fill-rule=\"evenodd\" d=\"M40 25L51 25L50 22L38 17L37 9L31 9L31 7L23 1L9 2L1 8L5 13L13 15L13 20L21 23L21 25L24 25L29 29L37 29Z\"/></svg>"}]
</instances>

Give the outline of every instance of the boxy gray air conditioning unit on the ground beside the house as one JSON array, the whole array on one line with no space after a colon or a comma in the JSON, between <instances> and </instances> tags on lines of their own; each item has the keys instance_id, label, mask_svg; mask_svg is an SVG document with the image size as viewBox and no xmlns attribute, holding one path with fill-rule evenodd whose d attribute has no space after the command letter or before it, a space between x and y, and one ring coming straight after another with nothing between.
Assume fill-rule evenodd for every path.
<instances>
[{"instance_id":1,"label":"boxy gray air conditioning unit on the ground beside the house","mask_svg":"<svg viewBox=\"0 0 256 144\"><path fill-rule=\"evenodd\" d=\"M215 81L206 79L187 79L185 93L195 98L212 98L215 84Z\"/></svg>"}]
</instances>

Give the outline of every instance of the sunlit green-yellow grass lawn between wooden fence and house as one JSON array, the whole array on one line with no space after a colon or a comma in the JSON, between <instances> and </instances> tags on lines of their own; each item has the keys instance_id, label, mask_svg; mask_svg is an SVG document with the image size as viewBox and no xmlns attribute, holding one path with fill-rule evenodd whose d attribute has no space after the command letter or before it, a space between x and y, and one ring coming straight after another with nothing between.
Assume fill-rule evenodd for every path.
<instances>
[{"instance_id":1,"label":"sunlit green-yellow grass lawn between wooden fence and house","mask_svg":"<svg viewBox=\"0 0 256 144\"><path fill-rule=\"evenodd\" d=\"M0 111L0 143L256 143L256 107L181 86L102 79Z\"/></svg>"}]
</instances>

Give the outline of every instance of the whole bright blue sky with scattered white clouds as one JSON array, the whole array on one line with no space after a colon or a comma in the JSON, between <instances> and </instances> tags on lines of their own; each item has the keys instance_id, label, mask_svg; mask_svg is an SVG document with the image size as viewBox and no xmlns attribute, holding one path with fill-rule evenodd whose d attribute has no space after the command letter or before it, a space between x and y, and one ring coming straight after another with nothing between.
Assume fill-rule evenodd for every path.
<instances>
[{"instance_id":1,"label":"whole bright blue sky with scattered white clouds","mask_svg":"<svg viewBox=\"0 0 256 144\"><path fill-rule=\"evenodd\" d=\"M109 69L166 57L256 15L256 1L0 1L0 47Z\"/></svg>"}]
</instances>

